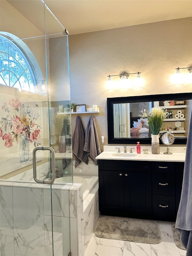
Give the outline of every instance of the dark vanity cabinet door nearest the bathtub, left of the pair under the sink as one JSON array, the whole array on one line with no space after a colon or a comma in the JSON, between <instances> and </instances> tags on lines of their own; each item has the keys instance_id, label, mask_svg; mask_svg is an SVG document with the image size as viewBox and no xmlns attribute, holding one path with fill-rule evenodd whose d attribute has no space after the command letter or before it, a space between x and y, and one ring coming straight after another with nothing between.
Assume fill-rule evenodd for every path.
<instances>
[{"instance_id":1,"label":"dark vanity cabinet door nearest the bathtub, left of the pair under the sink","mask_svg":"<svg viewBox=\"0 0 192 256\"><path fill-rule=\"evenodd\" d=\"M99 170L99 210L103 215L123 215L123 172Z\"/></svg>"}]
</instances>

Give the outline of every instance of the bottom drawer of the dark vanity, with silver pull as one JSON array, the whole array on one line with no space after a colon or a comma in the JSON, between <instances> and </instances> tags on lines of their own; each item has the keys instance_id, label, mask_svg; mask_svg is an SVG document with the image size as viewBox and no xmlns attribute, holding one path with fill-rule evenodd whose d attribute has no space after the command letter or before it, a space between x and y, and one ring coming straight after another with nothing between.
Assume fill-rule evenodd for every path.
<instances>
[{"instance_id":1,"label":"bottom drawer of the dark vanity, with silver pull","mask_svg":"<svg viewBox=\"0 0 192 256\"><path fill-rule=\"evenodd\" d=\"M153 195L153 218L157 220L175 221L175 197Z\"/></svg>"}]
</instances>

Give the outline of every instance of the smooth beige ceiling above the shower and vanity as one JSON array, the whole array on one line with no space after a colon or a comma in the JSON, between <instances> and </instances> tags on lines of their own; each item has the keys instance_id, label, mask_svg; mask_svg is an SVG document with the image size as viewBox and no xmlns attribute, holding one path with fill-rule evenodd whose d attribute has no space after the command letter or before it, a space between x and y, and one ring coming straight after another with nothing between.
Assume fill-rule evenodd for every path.
<instances>
[{"instance_id":1,"label":"smooth beige ceiling above the shower and vanity","mask_svg":"<svg viewBox=\"0 0 192 256\"><path fill-rule=\"evenodd\" d=\"M44 12L40 1L7 0L7 2L42 32L44 31L42 20ZM192 0L44 0L44 2L69 31L69 35L192 17ZM48 20L52 31L57 31L56 20L50 15Z\"/></svg>"}]
</instances>

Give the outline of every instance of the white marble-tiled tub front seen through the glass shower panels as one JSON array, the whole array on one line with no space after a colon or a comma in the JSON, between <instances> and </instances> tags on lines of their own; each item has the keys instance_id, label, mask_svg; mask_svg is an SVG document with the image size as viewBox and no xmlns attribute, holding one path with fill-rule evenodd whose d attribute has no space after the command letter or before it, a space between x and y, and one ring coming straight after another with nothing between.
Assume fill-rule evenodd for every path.
<instances>
[{"instance_id":1,"label":"white marble-tiled tub front seen through the glass shower panels","mask_svg":"<svg viewBox=\"0 0 192 256\"><path fill-rule=\"evenodd\" d=\"M52 255L52 224L50 189L34 186L21 187L0 186L1 215L0 239L1 255ZM29 183L28 183L29 185ZM69 191L53 189L53 244L54 255L68 255L70 238L64 237L69 233ZM56 199L60 198L68 204L59 209ZM71 191L74 194L74 191ZM66 199L66 200L65 200ZM73 203L73 198L71 199ZM71 213L71 216L75 217ZM73 218L71 217L71 218Z\"/></svg>"}]
</instances>

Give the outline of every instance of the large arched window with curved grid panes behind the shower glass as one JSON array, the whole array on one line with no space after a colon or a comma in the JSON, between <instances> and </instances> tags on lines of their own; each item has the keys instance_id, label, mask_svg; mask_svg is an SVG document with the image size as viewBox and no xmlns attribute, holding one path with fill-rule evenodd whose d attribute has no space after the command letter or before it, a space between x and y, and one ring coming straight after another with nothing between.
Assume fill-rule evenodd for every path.
<instances>
[{"instance_id":1,"label":"large arched window with curved grid panes behind the shower glass","mask_svg":"<svg viewBox=\"0 0 192 256\"><path fill-rule=\"evenodd\" d=\"M35 56L18 37L0 32L0 84L44 94L43 75Z\"/></svg>"}]
</instances>

